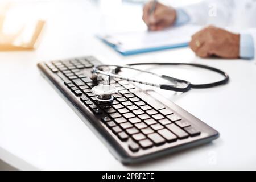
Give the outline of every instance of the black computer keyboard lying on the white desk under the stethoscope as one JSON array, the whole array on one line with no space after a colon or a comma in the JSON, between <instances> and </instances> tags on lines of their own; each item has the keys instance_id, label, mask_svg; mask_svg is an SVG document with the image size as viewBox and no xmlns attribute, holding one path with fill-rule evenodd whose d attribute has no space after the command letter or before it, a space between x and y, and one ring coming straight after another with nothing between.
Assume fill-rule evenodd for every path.
<instances>
[{"instance_id":1,"label":"black computer keyboard lying on the white desk under the stethoscope","mask_svg":"<svg viewBox=\"0 0 256 182\"><path fill-rule=\"evenodd\" d=\"M218 138L219 134L153 90L115 78L114 101L96 101L90 76L93 56L39 63L38 68L65 101L123 164L139 163Z\"/></svg>"}]
</instances>

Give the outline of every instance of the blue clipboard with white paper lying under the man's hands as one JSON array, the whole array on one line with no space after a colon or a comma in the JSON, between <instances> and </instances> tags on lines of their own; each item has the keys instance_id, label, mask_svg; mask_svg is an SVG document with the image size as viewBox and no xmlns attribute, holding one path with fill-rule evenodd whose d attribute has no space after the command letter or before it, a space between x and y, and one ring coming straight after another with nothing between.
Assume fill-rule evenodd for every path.
<instances>
[{"instance_id":1,"label":"blue clipboard with white paper lying under the man's hands","mask_svg":"<svg viewBox=\"0 0 256 182\"><path fill-rule=\"evenodd\" d=\"M187 47L200 26L185 25L162 31L115 32L97 38L124 56Z\"/></svg>"}]
</instances>

